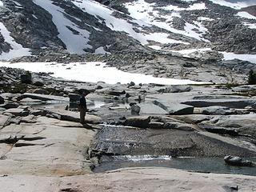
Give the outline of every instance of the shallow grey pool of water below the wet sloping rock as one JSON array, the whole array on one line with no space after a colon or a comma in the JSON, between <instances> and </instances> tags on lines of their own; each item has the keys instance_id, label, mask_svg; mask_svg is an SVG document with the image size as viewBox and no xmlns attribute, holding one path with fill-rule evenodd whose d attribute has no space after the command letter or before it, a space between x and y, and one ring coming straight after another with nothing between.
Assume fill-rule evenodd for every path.
<instances>
[{"instance_id":1,"label":"shallow grey pool of water below the wet sloping rock","mask_svg":"<svg viewBox=\"0 0 256 192\"><path fill-rule=\"evenodd\" d=\"M139 160L141 158L141 160ZM256 158L250 158L256 161ZM256 176L256 167L228 166L223 158L170 158L146 156L102 157L102 164L94 172L116 170L124 167L158 166L204 173L248 174Z\"/></svg>"}]
</instances>

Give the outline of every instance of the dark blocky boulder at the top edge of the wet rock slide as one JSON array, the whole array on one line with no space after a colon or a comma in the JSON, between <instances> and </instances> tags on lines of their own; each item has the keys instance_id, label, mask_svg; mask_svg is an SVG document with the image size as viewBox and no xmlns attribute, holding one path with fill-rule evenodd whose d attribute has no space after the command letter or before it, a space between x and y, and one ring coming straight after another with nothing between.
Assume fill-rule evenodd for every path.
<instances>
[{"instance_id":1,"label":"dark blocky boulder at the top edge of the wet rock slide","mask_svg":"<svg viewBox=\"0 0 256 192\"><path fill-rule=\"evenodd\" d=\"M125 121L125 126L135 126L141 128L148 128L150 123L149 116L142 116L142 117L131 117L127 118Z\"/></svg>"}]
</instances>

